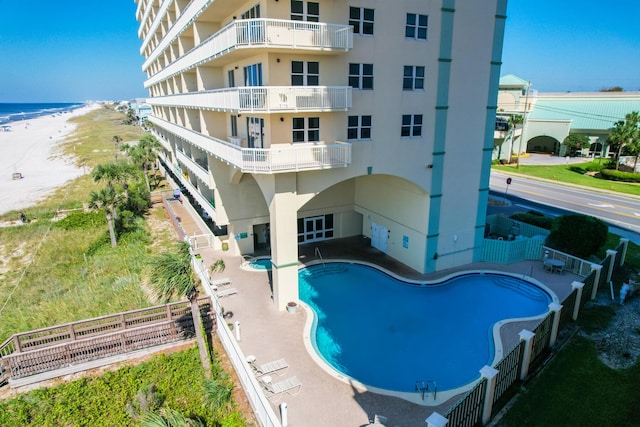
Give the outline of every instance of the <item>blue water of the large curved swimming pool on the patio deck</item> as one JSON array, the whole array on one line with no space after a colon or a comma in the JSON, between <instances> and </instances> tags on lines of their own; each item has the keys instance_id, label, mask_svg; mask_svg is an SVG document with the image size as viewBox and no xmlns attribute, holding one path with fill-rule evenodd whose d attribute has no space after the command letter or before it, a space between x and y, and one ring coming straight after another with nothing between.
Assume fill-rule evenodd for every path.
<instances>
[{"instance_id":1,"label":"blue water of the large curved swimming pool on the patio deck","mask_svg":"<svg viewBox=\"0 0 640 427\"><path fill-rule=\"evenodd\" d=\"M493 273L420 285L366 265L326 263L299 277L319 355L362 384L397 392L414 392L416 381L435 380L444 391L478 379L494 361L496 322L543 315L552 302L541 287Z\"/></svg>"}]
</instances>

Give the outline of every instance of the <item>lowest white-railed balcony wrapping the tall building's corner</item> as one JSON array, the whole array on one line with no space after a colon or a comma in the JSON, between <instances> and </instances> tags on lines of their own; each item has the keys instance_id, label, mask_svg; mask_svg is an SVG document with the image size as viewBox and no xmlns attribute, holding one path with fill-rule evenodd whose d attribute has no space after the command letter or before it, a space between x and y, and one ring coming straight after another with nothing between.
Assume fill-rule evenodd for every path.
<instances>
[{"instance_id":1,"label":"lowest white-railed balcony wrapping the tall building's corner","mask_svg":"<svg viewBox=\"0 0 640 427\"><path fill-rule=\"evenodd\" d=\"M156 128L163 129L176 138L207 152L245 173L284 173L347 167L351 164L351 144L322 142L307 144L282 144L271 148L238 147L231 142L202 135L166 120L149 116ZM178 159L186 156L178 153ZM197 165L191 161L193 165ZM185 161L185 164L188 165ZM199 166L198 166L199 167Z\"/></svg>"}]
</instances>

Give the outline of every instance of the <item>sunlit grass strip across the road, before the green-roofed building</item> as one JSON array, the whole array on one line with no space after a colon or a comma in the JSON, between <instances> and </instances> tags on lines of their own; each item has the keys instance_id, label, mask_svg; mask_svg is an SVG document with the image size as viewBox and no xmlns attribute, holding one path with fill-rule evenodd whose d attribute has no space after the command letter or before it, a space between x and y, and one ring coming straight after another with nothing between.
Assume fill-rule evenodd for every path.
<instances>
[{"instance_id":1,"label":"sunlit grass strip across the road, before the green-roofed building","mask_svg":"<svg viewBox=\"0 0 640 427\"><path fill-rule=\"evenodd\" d=\"M536 178L550 179L561 181L569 184L583 185L585 187L597 188L599 190L616 191L618 193L640 195L640 185L628 184L623 182L607 181L596 178L591 175L584 175L580 172L574 172L575 165L553 165L553 166L534 166L520 165L516 169L515 166L493 165L493 169L508 172L519 173Z\"/></svg>"}]
</instances>

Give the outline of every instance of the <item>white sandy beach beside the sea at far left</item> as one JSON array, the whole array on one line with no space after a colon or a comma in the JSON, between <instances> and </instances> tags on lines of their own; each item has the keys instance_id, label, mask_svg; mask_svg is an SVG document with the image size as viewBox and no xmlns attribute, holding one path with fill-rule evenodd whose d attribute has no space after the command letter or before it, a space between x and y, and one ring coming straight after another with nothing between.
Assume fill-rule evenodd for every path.
<instances>
[{"instance_id":1,"label":"white sandy beach beside the sea at far left","mask_svg":"<svg viewBox=\"0 0 640 427\"><path fill-rule=\"evenodd\" d=\"M63 157L59 145L74 130L69 122L100 108L90 104L73 112L8 123L0 132L0 214L32 206L67 181L83 174L74 160ZM21 179L14 179L14 174Z\"/></svg>"}]
</instances>

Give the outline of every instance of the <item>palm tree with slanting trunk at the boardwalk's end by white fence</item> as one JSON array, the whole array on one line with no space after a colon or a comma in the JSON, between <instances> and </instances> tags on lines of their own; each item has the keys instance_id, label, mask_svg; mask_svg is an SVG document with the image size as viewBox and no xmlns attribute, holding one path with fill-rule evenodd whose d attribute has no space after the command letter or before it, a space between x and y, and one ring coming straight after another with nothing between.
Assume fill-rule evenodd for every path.
<instances>
[{"instance_id":1,"label":"palm tree with slanting trunk at the boardwalk's end by white fence","mask_svg":"<svg viewBox=\"0 0 640 427\"><path fill-rule=\"evenodd\" d=\"M204 331L198 307L198 288L191 268L189 244L180 242L175 250L163 252L151 259L151 283L159 299L168 302L175 294L184 295L191 304L191 317L195 328L200 362L207 378L211 378L211 361L204 340Z\"/></svg>"}]
</instances>

